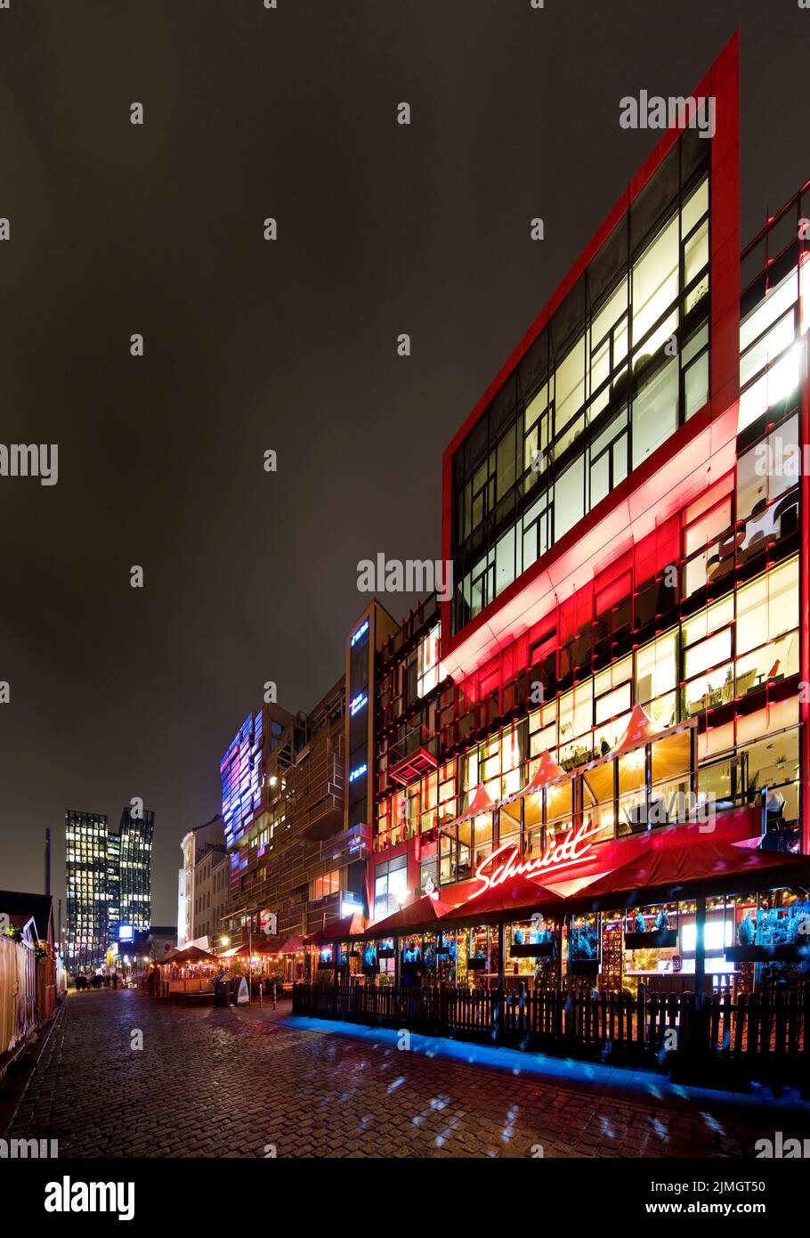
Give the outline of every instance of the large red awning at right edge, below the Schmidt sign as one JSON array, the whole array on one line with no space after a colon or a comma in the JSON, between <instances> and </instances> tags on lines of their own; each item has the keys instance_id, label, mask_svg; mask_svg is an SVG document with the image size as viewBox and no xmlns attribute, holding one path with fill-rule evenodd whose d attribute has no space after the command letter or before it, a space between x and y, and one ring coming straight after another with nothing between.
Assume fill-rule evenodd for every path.
<instances>
[{"instance_id":1,"label":"large red awning at right edge, below the Schmidt sign","mask_svg":"<svg viewBox=\"0 0 810 1238\"><path fill-rule=\"evenodd\" d=\"M662 846L663 842L650 839L650 846L641 855L585 886L578 901L603 899L610 894L643 895L647 890L660 888L671 890L671 896L675 896L681 888L701 880L722 881L722 889L726 889L728 879L736 879L742 893L746 886L772 889L810 879L806 855L752 851L718 838L680 841L670 837ZM720 886L718 893L722 893Z\"/></svg>"}]
</instances>

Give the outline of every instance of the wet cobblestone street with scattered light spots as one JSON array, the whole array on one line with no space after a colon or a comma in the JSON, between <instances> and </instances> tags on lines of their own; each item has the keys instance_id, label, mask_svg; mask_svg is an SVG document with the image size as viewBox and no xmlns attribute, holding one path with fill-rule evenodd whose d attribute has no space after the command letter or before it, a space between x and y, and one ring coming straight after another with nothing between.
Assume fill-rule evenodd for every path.
<instances>
[{"instance_id":1,"label":"wet cobblestone street with scattered light spots","mask_svg":"<svg viewBox=\"0 0 810 1238\"><path fill-rule=\"evenodd\" d=\"M749 1156L761 1129L391 1045L271 1011L72 994L12 1124L59 1156ZM132 1049L136 1031L142 1050Z\"/></svg>"}]
</instances>

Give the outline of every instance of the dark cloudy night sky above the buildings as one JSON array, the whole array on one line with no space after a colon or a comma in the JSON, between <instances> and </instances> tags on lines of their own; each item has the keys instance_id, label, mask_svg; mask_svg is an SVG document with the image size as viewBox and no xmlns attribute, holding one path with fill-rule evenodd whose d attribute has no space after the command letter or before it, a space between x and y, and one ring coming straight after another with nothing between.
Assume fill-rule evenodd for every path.
<instances>
[{"instance_id":1,"label":"dark cloudy night sky above the buildings","mask_svg":"<svg viewBox=\"0 0 810 1238\"><path fill-rule=\"evenodd\" d=\"M141 796L176 922L265 681L312 708L357 560L439 557L444 447L659 136L620 99L736 27L747 240L810 177L796 0L0 10L0 441L59 447L0 478L0 888L42 889L51 826L62 895L64 810Z\"/></svg>"}]
</instances>

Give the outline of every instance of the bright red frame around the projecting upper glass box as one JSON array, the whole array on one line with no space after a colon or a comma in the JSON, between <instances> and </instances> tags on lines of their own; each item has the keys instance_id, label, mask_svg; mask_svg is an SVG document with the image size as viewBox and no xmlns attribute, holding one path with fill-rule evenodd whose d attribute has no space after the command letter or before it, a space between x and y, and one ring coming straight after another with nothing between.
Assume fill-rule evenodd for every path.
<instances>
[{"instance_id":1,"label":"bright red frame around the projecting upper glass box","mask_svg":"<svg viewBox=\"0 0 810 1238\"><path fill-rule=\"evenodd\" d=\"M463 630L451 631L451 602L441 603L441 661L459 678L508 645L548 602L569 597L603 563L606 548L629 524L637 542L662 516L680 505L662 501L662 470L675 494L684 475L704 470L705 485L733 465L740 395L740 40L735 33L694 92L716 100L716 132L710 163L710 395L704 409L681 426L639 468ZM681 130L664 132L628 188L596 230L547 306L486 389L444 452L441 469L441 552L453 558L453 456L490 401L571 291L632 203L642 193ZM667 468L669 465L669 468ZM647 494L646 494L647 490ZM655 498L654 498L655 495ZM623 509L623 511L622 511ZM590 539L590 542L589 542ZM590 552L590 553L589 553ZM590 560L590 563L589 563ZM531 612L531 619L527 613Z\"/></svg>"}]
</instances>

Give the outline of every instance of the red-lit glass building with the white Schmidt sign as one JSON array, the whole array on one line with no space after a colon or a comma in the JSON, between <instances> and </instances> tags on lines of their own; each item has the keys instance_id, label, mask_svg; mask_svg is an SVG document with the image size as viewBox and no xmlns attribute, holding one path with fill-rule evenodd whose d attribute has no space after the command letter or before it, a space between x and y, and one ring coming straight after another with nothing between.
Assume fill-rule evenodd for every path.
<instances>
[{"instance_id":1,"label":"red-lit glass building with the white Schmidt sign","mask_svg":"<svg viewBox=\"0 0 810 1238\"><path fill-rule=\"evenodd\" d=\"M523 867L553 885L558 987L744 989L742 922L764 940L806 898L805 868L752 855L810 852L810 193L741 279L737 58L695 92L714 136L664 132L450 443L454 595L377 660L373 917L424 890L461 909ZM652 853L659 886L629 907L616 874ZM646 967L627 916L673 926ZM542 972L502 917L466 921L453 978Z\"/></svg>"}]
</instances>

